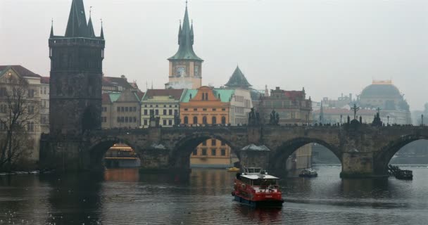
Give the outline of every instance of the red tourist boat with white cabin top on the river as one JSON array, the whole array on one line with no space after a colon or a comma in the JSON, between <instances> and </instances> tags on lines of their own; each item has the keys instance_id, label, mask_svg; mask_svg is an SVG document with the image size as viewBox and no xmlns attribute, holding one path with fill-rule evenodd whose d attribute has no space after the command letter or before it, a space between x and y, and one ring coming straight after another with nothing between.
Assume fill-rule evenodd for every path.
<instances>
[{"instance_id":1,"label":"red tourist boat with white cabin top on the river","mask_svg":"<svg viewBox=\"0 0 428 225\"><path fill-rule=\"evenodd\" d=\"M258 206L282 206L279 178L268 175L261 168L244 168L242 174L237 174L234 180L234 200L239 203Z\"/></svg>"}]
</instances>

